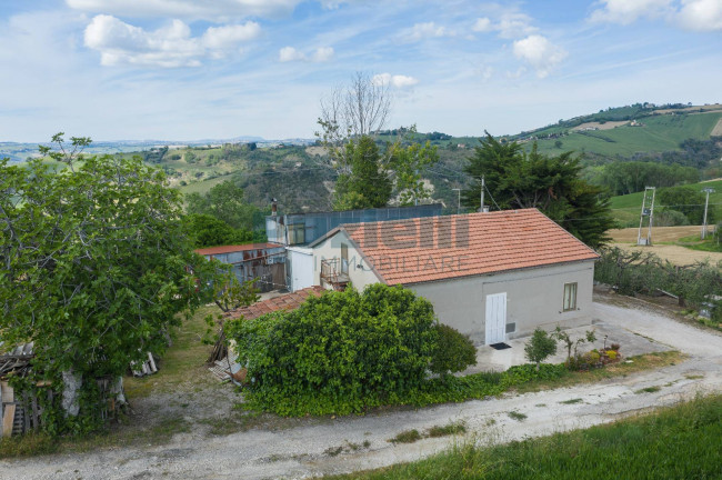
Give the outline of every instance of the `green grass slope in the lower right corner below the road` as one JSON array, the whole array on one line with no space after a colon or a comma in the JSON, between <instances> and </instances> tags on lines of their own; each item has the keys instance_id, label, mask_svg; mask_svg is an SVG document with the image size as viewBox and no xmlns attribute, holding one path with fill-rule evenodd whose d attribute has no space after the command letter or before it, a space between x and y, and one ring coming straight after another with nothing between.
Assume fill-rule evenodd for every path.
<instances>
[{"instance_id":1,"label":"green grass slope in the lower right corner below the road","mask_svg":"<svg viewBox=\"0 0 722 480\"><path fill-rule=\"evenodd\" d=\"M331 478L719 479L721 451L718 394L612 424L491 448L468 441L418 462Z\"/></svg>"}]
</instances>

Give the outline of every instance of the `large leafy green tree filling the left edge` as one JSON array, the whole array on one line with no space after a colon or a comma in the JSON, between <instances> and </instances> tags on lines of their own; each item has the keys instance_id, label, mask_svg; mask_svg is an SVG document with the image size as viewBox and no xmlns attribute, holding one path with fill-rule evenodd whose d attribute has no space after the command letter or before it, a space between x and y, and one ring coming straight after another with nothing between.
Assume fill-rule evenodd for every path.
<instances>
[{"instance_id":1,"label":"large leafy green tree filling the left edge","mask_svg":"<svg viewBox=\"0 0 722 480\"><path fill-rule=\"evenodd\" d=\"M179 313L210 300L217 270L192 252L162 171L52 153L67 168L0 161L0 339L33 341L36 374L62 389L71 372L92 397L90 379L163 351Z\"/></svg>"}]
</instances>

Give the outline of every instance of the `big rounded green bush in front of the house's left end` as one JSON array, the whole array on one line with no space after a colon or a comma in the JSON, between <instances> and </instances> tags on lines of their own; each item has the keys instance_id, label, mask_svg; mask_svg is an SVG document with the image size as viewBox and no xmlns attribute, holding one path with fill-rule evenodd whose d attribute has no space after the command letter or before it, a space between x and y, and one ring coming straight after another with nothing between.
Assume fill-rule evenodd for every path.
<instances>
[{"instance_id":1,"label":"big rounded green bush in front of the house's left end","mask_svg":"<svg viewBox=\"0 0 722 480\"><path fill-rule=\"evenodd\" d=\"M437 351L431 303L373 284L299 309L227 324L251 379L251 407L284 416L351 413L399 403L424 386Z\"/></svg>"}]
</instances>

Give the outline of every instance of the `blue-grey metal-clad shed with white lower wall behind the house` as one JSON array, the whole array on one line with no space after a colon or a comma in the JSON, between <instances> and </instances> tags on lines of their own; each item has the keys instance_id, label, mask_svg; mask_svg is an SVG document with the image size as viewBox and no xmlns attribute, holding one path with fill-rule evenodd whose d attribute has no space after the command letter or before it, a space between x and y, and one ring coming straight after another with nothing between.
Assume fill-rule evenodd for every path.
<instances>
[{"instance_id":1,"label":"blue-grey metal-clad shed with white lower wall behind the house","mask_svg":"<svg viewBox=\"0 0 722 480\"><path fill-rule=\"evenodd\" d=\"M290 291L313 286L313 250L308 248L340 224L438 217L441 203L415 207L385 207L331 212L277 214L275 201L265 218L269 242L285 247L285 286Z\"/></svg>"}]
</instances>

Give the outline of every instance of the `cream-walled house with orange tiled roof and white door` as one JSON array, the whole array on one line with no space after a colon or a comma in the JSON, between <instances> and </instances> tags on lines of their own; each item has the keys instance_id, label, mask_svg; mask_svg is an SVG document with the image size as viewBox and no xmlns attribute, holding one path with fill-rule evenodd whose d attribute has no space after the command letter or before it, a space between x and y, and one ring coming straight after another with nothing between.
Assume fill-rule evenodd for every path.
<instances>
[{"instance_id":1,"label":"cream-walled house with orange tiled roof and white door","mask_svg":"<svg viewBox=\"0 0 722 480\"><path fill-rule=\"evenodd\" d=\"M477 344L591 321L599 256L537 209L347 224L309 247L314 284L401 284Z\"/></svg>"}]
</instances>

